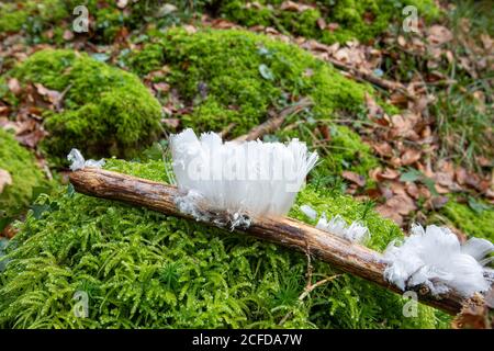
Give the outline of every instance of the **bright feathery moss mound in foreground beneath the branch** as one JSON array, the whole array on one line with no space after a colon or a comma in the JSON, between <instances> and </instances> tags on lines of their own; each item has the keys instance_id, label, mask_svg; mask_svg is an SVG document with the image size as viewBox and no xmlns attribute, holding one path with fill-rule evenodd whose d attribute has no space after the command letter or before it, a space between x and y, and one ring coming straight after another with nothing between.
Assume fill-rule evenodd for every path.
<instances>
[{"instance_id":1,"label":"bright feathery moss mound in foreground beneath the branch","mask_svg":"<svg viewBox=\"0 0 494 351\"><path fill-rule=\"evenodd\" d=\"M111 160L108 169L166 181L162 162ZM0 326L32 328L431 328L434 310L402 315L398 295L343 274L301 303L306 258L243 235L61 190L31 214L7 249ZM349 197L305 190L299 205L362 219L383 248L400 229ZM295 205L292 215L304 219ZM334 275L313 262L314 279ZM76 318L88 294L88 318Z\"/></svg>"}]
</instances>

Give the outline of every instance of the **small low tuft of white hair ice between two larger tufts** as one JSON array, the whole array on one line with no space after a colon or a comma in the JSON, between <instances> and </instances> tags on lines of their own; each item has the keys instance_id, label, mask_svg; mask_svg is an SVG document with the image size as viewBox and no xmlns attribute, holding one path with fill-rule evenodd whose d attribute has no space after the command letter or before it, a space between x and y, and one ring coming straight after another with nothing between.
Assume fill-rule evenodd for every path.
<instances>
[{"instance_id":1,"label":"small low tuft of white hair ice between two larger tufts","mask_svg":"<svg viewBox=\"0 0 494 351\"><path fill-rule=\"evenodd\" d=\"M340 215L332 217L328 222L326 214L323 213L317 222L316 228L337 235L352 242L364 244L370 238L369 229L360 222L353 222L350 226L348 226Z\"/></svg>"}]
</instances>

